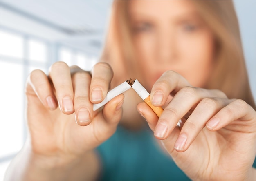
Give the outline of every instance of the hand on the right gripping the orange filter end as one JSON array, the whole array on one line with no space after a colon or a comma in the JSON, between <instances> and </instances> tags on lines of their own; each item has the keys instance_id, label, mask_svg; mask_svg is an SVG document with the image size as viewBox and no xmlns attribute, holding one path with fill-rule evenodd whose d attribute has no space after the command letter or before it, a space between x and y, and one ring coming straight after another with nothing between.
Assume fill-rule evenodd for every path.
<instances>
[{"instance_id":1,"label":"hand on the right gripping the orange filter end","mask_svg":"<svg viewBox=\"0 0 256 181\"><path fill-rule=\"evenodd\" d=\"M159 119L145 103L137 109L175 163L193 180L252 179L255 110L219 90L192 87L173 71L156 81L151 102L163 106L170 94Z\"/></svg>"}]
</instances>

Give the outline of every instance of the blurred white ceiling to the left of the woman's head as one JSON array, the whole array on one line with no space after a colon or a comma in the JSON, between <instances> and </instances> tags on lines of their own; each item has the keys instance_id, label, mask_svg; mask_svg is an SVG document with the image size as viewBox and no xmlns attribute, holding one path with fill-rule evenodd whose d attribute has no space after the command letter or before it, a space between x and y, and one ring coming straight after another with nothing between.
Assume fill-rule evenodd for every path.
<instances>
[{"instance_id":1,"label":"blurred white ceiling to the left of the woman's head","mask_svg":"<svg viewBox=\"0 0 256 181\"><path fill-rule=\"evenodd\" d=\"M100 49L112 0L1 0L0 25L74 48Z\"/></svg>"}]
</instances>

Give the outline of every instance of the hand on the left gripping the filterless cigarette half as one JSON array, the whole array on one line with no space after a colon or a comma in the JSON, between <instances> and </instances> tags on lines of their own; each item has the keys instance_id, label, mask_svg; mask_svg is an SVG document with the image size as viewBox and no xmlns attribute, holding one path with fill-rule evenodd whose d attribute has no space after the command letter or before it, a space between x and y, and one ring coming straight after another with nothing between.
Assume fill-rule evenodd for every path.
<instances>
[{"instance_id":1,"label":"hand on the left gripping the filterless cigarette half","mask_svg":"<svg viewBox=\"0 0 256 181\"><path fill-rule=\"evenodd\" d=\"M99 111L93 111L93 104L105 98L112 77L107 63L97 63L92 72L64 62L54 63L49 76L31 72L26 96L32 152L78 157L108 139L121 119L124 95Z\"/></svg>"}]
</instances>

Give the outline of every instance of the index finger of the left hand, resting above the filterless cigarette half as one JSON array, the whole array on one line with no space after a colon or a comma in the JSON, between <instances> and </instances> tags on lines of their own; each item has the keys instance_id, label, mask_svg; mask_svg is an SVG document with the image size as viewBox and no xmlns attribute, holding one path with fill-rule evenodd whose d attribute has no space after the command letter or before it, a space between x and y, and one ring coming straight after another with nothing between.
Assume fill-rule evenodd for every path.
<instances>
[{"instance_id":1,"label":"index finger of the left hand, resting above the filterless cigarette half","mask_svg":"<svg viewBox=\"0 0 256 181\"><path fill-rule=\"evenodd\" d=\"M92 81L90 86L90 100L92 103L100 103L108 93L113 71L108 63L97 63L92 69Z\"/></svg>"}]
</instances>

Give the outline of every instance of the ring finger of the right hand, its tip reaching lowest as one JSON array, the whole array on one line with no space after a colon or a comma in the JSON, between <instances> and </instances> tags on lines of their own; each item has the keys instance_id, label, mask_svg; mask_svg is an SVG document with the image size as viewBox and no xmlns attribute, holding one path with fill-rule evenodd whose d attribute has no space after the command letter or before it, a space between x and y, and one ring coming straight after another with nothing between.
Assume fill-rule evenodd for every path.
<instances>
[{"instance_id":1,"label":"ring finger of the right hand, its tip reaching lowest","mask_svg":"<svg viewBox=\"0 0 256 181\"><path fill-rule=\"evenodd\" d=\"M229 101L227 99L202 99L182 126L180 135L174 145L175 150L178 152L186 151L196 136L205 127L207 121L228 103Z\"/></svg>"}]
</instances>

